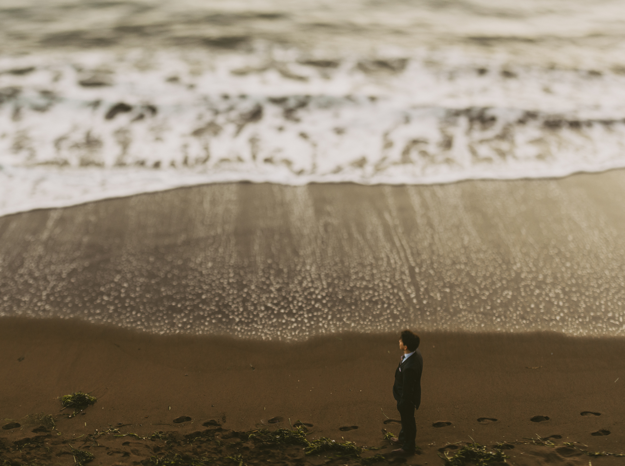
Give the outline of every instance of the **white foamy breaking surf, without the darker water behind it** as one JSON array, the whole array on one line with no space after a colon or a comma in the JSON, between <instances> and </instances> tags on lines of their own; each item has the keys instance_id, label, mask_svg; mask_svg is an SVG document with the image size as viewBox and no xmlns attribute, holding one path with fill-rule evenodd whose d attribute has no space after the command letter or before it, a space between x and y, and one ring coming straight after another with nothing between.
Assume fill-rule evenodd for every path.
<instances>
[{"instance_id":1,"label":"white foamy breaking surf, without the darker water behind it","mask_svg":"<svg viewBox=\"0 0 625 466\"><path fill-rule=\"evenodd\" d=\"M0 215L215 182L446 183L625 167L621 69L461 50L0 59Z\"/></svg>"}]
</instances>

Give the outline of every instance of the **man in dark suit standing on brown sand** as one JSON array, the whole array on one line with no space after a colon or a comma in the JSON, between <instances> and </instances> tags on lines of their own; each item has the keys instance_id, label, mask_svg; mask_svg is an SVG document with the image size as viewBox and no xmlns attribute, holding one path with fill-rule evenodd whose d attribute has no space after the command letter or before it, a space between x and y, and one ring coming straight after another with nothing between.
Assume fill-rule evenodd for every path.
<instances>
[{"instance_id":1,"label":"man in dark suit standing on brown sand","mask_svg":"<svg viewBox=\"0 0 625 466\"><path fill-rule=\"evenodd\" d=\"M404 352L395 371L395 383L392 395L397 400L397 410L401 415L399 436L391 439L400 449L392 450L396 455L412 455L415 449L417 426L414 422L414 410L421 404L421 372L423 358L419 347L419 336L404 330L399 338L399 349Z\"/></svg>"}]
</instances>

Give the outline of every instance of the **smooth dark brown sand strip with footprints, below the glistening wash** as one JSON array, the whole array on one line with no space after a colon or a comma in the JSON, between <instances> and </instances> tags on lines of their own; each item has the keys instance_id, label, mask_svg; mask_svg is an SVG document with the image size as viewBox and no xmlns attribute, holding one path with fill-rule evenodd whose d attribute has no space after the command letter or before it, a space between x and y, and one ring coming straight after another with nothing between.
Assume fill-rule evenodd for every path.
<instances>
[{"instance_id":1,"label":"smooth dark brown sand strip with footprints, below the glistening wash","mask_svg":"<svg viewBox=\"0 0 625 466\"><path fill-rule=\"evenodd\" d=\"M289 429L299 420L309 425L309 439L323 436L361 446L387 445L366 456L388 455L392 445L382 440L382 429L399 431L399 424L387 419L397 419L391 393L400 356L396 334L341 334L286 343L155 336L58 319L2 318L0 323L0 416L7 419L4 422L24 422L29 414L61 414L56 430L44 442L70 440L78 448L84 437L71 440L74 437L119 423L122 433L144 437L159 430L180 435L202 432L206 430L202 423L211 419L225 431ZM407 464L442 464L439 449L469 442L469 437L492 445L560 435L550 440L581 442L587 447L580 448L592 451L625 452L623 339L552 332L421 337L423 394L416 419L422 453ZM98 401L84 414L63 419L58 397L75 391L90 392ZM191 421L173 422L183 415ZM536 415L549 420L532 422ZM282 420L269 422L275 417ZM450 425L434 427L437 422ZM357 428L341 430L350 426ZM32 427L2 430L5 447L34 437ZM610 433L592 435L599 430ZM131 453L122 440L140 440L109 437L109 443L101 443L110 450L91 450L96 455L93 464L137 464L153 454L147 450L153 447L149 440L144 441L148 447L133 448ZM624 461L571 456L568 450L558 453L553 447L514 446L506 450L509 464ZM63 444L55 448L62 449ZM68 464L71 460L71 456L59 459ZM306 457L306 461L316 460Z\"/></svg>"}]
</instances>

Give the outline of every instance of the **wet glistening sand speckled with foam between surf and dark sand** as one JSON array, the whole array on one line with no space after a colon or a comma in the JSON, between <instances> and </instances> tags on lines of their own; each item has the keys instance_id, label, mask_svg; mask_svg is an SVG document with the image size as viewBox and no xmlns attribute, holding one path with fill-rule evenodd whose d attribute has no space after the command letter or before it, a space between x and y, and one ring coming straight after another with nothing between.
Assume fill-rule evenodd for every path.
<instances>
[{"instance_id":1,"label":"wet glistening sand speckled with foam between surf and dark sand","mask_svg":"<svg viewBox=\"0 0 625 466\"><path fill-rule=\"evenodd\" d=\"M0 218L0 315L306 339L624 333L625 172L232 183Z\"/></svg>"}]
</instances>

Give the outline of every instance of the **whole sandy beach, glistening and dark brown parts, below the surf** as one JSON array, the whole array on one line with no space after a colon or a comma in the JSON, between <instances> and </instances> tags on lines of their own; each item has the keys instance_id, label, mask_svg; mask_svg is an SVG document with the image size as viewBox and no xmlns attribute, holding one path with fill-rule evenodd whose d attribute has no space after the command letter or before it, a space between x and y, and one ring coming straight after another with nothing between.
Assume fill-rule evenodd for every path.
<instances>
[{"instance_id":1,"label":"whole sandy beach, glistening and dark brown parts, below the surf","mask_svg":"<svg viewBox=\"0 0 625 466\"><path fill-rule=\"evenodd\" d=\"M471 439L504 442L512 465L622 464L584 452L625 452L624 176L232 183L4 216L0 417L20 425L1 454L401 462L383 436L399 431L409 327L424 374L406 464L442 465ZM59 397L76 391L98 400L68 418ZM311 441L376 449L304 455L249 437L298 422Z\"/></svg>"}]
</instances>

